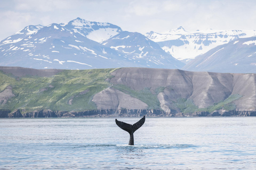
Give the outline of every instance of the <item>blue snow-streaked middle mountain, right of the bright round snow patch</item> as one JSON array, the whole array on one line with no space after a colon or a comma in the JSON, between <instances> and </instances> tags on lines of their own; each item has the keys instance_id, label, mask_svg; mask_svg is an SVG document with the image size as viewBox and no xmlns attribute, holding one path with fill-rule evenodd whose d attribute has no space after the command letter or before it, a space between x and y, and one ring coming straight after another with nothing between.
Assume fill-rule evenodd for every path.
<instances>
[{"instance_id":1,"label":"blue snow-streaked middle mountain, right of the bright round snow patch","mask_svg":"<svg viewBox=\"0 0 256 170\"><path fill-rule=\"evenodd\" d=\"M155 68L180 68L183 63L178 62L154 41L141 33L123 31L118 35L102 42L103 45L116 49L125 54L128 60Z\"/></svg>"}]
</instances>

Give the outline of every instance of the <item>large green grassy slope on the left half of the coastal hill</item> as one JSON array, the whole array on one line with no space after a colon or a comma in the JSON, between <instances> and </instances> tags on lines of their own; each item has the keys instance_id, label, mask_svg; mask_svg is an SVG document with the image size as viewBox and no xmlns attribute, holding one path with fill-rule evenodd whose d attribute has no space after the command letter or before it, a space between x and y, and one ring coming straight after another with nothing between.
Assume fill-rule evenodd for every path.
<instances>
[{"instance_id":1,"label":"large green grassy slope on the left half of the coastal hill","mask_svg":"<svg viewBox=\"0 0 256 170\"><path fill-rule=\"evenodd\" d=\"M84 111L96 109L93 95L109 87L105 81L116 69L66 70L52 77L23 77L0 72L0 91L12 86L15 97L2 109L51 109L52 111ZM83 93L83 91L85 91ZM81 93L82 94L79 94ZM69 100L72 99L72 105Z\"/></svg>"}]
</instances>

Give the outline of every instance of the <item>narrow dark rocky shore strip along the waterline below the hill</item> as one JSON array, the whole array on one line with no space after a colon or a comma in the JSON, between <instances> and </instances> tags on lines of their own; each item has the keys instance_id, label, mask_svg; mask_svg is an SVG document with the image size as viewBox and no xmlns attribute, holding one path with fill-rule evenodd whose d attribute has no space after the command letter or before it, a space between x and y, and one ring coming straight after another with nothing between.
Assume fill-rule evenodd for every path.
<instances>
[{"instance_id":1,"label":"narrow dark rocky shore strip along the waterline below the hill","mask_svg":"<svg viewBox=\"0 0 256 170\"><path fill-rule=\"evenodd\" d=\"M43 118L43 117L139 117L147 115L150 117L206 117L206 116L256 116L256 111L214 111L209 112L195 112L189 114L183 113L166 113L160 109L105 109L93 110L83 112L65 112L65 111L51 111L40 110L33 112L26 112L17 109L13 112L8 110L0 110L0 118Z\"/></svg>"}]
</instances>

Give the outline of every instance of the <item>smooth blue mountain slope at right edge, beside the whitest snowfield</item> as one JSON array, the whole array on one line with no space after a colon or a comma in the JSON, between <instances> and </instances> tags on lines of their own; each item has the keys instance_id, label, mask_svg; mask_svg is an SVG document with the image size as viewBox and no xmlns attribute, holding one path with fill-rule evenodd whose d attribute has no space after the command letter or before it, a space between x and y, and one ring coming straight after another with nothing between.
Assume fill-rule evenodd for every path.
<instances>
[{"instance_id":1,"label":"smooth blue mountain slope at right edge, beside the whitest snowfield","mask_svg":"<svg viewBox=\"0 0 256 170\"><path fill-rule=\"evenodd\" d=\"M256 37L233 40L198 56L182 69L221 73L256 73Z\"/></svg>"}]
</instances>

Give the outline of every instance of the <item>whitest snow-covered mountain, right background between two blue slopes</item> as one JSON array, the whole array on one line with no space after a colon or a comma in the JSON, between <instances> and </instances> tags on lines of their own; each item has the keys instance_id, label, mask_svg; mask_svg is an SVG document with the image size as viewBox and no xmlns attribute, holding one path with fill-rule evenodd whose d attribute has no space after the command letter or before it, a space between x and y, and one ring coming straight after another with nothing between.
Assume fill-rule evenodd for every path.
<instances>
[{"instance_id":1,"label":"whitest snow-covered mountain, right background between two blue slopes","mask_svg":"<svg viewBox=\"0 0 256 170\"><path fill-rule=\"evenodd\" d=\"M238 38L256 35L256 30L197 30L188 32L182 27L163 33L148 32L149 39L157 42L166 53L186 63L198 55Z\"/></svg>"}]
</instances>

